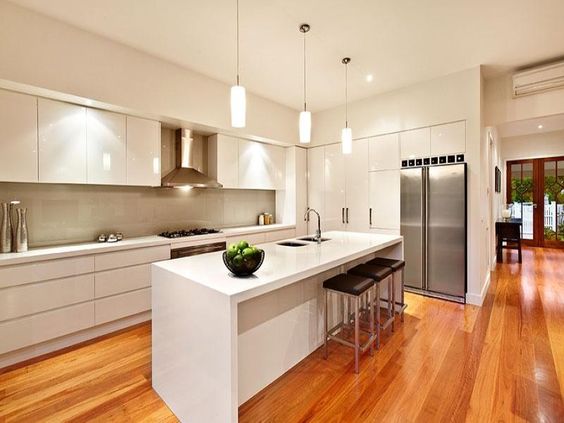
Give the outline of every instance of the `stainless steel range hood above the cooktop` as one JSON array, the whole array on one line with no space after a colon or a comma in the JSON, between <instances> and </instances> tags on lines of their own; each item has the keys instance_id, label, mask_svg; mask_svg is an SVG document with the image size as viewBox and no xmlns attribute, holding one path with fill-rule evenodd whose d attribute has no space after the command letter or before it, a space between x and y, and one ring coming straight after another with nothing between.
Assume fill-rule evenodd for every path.
<instances>
[{"instance_id":1,"label":"stainless steel range hood above the cooktop","mask_svg":"<svg viewBox=\"0 0 564 423\"><path fill-rule=\"evenodd\" d=\"M222 188L219 182L198 170L195 162L195 140L189 129L176 131L176 168L161 180L163 187Z\"/></svg>"}]
</instances>

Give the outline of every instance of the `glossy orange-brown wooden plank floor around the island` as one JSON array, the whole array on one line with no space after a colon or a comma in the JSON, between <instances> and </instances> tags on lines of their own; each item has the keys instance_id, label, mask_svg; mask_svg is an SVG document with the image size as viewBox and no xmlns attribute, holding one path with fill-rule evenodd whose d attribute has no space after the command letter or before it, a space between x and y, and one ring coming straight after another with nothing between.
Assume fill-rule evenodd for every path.
<instances>
[{"instance_id":1,"label":"glossy orange-brown wooden plank floor around the island","mask_svg":"<svg viewBox=\"0 0 564 423\"><path fill-rule=\"evenodd\" d=\"M329 360L313 353L240 421L564 422L564 250L525 249L492 275L482 308L409 295L360 375L331 344ZM150 347L146 324L0 371L0 422L176 421L151 389Z\"/></svg>"}]
</instances>

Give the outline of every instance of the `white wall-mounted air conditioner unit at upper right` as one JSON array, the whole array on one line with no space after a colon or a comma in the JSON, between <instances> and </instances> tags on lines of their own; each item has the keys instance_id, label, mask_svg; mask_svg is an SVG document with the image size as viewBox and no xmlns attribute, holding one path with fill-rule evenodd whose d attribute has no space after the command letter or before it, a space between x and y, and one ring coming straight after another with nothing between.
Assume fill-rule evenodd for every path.
<instances>
[{"instance_id":1,"label":"white wall-mounted air conditioner unit at upper right","mask_svg":"<svg viewBox=\"0 0 564 423\"><path fill-rule=\"evenodd\" d=\"M564 88L564 62L539 66L513 75L513 97Z\"/></svg>"}]
</instances>

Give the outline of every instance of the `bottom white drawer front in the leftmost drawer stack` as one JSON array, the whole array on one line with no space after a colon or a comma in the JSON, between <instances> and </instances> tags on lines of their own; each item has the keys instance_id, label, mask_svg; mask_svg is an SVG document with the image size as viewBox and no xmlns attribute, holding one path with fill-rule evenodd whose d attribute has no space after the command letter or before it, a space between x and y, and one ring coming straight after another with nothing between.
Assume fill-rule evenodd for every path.
<instances>
[{"instance_id":1,"label":"bottom white drawer front in the leftmost drawer stack","mask_svg":"<svg viewBox=\"0 0 564 423\"><path fill-rule=\"evenodd\" d=\"M94 326L94 302L0 323L0 354Z\"/></svg>"}]
</instances>

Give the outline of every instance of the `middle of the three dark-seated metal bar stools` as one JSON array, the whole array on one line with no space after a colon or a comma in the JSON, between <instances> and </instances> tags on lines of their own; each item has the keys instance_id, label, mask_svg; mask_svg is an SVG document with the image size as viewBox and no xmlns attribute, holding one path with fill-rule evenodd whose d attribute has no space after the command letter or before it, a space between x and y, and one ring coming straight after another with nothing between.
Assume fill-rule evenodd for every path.
<instances>
[{"instance_id":1,"label":"middle of the three dark-seated metal bar stools","mask_svg":"<svg viewBox=\"0 0 564 423\"><path fill-rule=\"evenodd\" d=\"M364 276L366 278L370 278L374 282L374 287L376 289L376 298L377 300L374 301L373 306L376 308L376 347L380 348L380 328L386 329L388 326L392 327L392 332L394 331L394 286L393 286L393 278L392 278L392 269L386 266L378 266L376 264L359 264L358 266L353 267L349 270L349 274L357 275L357 276ZM381 283L388 284L388 299L387 299L387 319L386 321L382 322L381 313L380 313L380 293ZM372 304L369 302L370 309L373 309Z\"/></svg>"}]
</instances>

